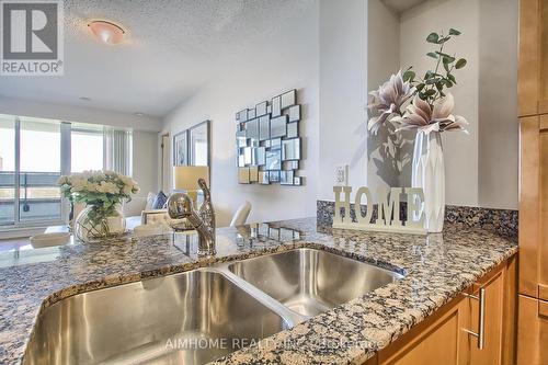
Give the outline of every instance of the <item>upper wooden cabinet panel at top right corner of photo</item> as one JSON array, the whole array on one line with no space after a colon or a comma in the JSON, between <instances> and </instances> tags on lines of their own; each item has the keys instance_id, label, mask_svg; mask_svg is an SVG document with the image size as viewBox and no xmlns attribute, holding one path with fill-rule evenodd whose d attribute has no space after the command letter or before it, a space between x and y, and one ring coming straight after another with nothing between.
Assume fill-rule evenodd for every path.
<instances>
[{"instance_id":1,"label":"upper wooden cabinet panel at top right corner of photo","mask_svg":"<svg viewBox=\"0 0 548 365\"><path fill-rule=\"evenodd\" d=\"M539 0L520 1L518 115L538 113L539 95Z\"/></svg>"}]
</instances>

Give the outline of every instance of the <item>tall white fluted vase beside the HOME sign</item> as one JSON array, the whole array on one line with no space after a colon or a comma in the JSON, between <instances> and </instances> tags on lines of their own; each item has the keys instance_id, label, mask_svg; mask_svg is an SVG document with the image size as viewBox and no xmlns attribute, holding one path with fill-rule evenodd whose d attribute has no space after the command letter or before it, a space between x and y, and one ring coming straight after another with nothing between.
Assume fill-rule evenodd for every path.
<instances>
[{"instance_id":1,"label":"tall white fluted vase beside the HOME sign","mask_svg":"<svg viewBox=\"0 0 548 365\"><path fill-rule=\"evenodd\" d=\"M439 132L418 132L413 151L411 186L424 191L424 228L441 232L445 218L445 168Z\"/></svg>"}]
</instances>

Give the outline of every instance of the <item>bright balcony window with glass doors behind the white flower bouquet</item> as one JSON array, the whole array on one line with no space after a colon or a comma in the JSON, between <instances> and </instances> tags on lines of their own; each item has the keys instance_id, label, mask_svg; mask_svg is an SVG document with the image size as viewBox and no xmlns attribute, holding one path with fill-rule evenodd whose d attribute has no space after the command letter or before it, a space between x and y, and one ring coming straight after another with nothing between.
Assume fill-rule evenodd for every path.
<instances>
[{"instance_id":1,"label":"bright balcony window with glass doors behind the white flower bouquet","mask_svg":"<svg viewBox=\"0 0 548 365\"><path fill-rule=\"evenodd\" d=\"M57 186L61 174L117 171L117 160L130 158L132 133L119 132L122 139L111 138L113 133L118 130L0 114L0 229L61 224L68 214Z\"/></svg>"}]
</instances>

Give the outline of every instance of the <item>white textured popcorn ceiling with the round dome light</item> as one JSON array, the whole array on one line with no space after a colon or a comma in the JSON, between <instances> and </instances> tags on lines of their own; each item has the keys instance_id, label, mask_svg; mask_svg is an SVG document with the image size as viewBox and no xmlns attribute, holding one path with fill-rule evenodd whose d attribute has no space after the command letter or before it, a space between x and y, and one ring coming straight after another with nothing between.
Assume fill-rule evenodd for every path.
<instances>
[{"instance_id":1,"label":"white textured popcorn ceiling with the round dome light","mask_svg":"<svg viewBox=\"0 0 548 365\"><path fill-rule=\"evenodd\" d=\"M230 72L250 45L267 44L315 5L313 0L66 0L65 76L1 77L0 95L163 116L215 82L218 72ZM94 19L121 24L127 42L96 42L87 26Z\"/></svg>"}]
</instances>

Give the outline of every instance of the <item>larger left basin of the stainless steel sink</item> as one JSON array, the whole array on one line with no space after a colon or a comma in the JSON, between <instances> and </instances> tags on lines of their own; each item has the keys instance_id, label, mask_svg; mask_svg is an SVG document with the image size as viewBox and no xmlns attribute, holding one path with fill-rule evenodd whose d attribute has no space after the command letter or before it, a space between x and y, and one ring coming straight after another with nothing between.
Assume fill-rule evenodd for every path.
<instances>
[{"instance_id":1,"label":"larger left basin of the stainless steel sink","mask_svg":"<svg viewBox=\"0 0 548 365\"><path fill-rule=\"evenodd\" d=\"M203 364L288 327L224 274L197 270L46 308L24 364Z\"/></svg>"}]
</instances>

